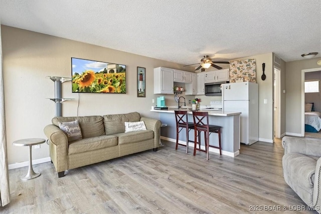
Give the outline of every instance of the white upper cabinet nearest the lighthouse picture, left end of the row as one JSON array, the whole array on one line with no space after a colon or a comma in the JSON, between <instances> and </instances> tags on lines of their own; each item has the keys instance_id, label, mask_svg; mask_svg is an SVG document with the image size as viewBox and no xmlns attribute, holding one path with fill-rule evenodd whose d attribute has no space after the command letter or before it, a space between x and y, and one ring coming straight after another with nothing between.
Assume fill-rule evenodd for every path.
<instances>
[{"instance_id":1,"label":"white upper cabinet nearest the lighthouse picture, left end of the row","mask_svg":"<svg viewBox=\"0 0 321 214\"><path fill-rule=\"evenodd\" d=\"M174 69L154 68L154 94L174 94Z\"/></svg>"}]
</instances>

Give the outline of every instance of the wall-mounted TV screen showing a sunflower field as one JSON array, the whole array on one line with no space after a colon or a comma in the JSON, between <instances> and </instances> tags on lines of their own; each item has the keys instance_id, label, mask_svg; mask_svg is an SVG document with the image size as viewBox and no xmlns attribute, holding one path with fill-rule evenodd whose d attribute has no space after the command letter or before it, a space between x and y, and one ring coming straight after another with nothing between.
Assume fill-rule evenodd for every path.
<instances>
[{"instance_id":1,"label":"wall-mounted TV screen showing a sunflower field","mask_svg":"<svg viewBox=\"0 0 321 214\"><path fill-rule=\"evenodd\" d=\"M72 92L126 94L126 66L71 58Z\"/></svg>"}]
</instances>

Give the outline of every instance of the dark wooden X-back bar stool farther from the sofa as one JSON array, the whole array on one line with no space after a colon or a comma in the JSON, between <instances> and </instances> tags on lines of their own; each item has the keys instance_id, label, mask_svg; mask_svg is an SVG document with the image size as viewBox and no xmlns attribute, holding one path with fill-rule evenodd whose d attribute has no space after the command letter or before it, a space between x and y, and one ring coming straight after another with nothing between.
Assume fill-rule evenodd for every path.
<instances>
[{"instance_id":1,"label":"dark wooden X-back bar stool farther from the sofa","mask_svg":"<svg viewBox=\"0 0 321 214\"><path fill-rule=\"evenodd\" d=\"M202 131L204 132L205 137L205 150L201 148L196 148L196 143L194 144L194 154L196 155L196 150L206 152L206 159L209 159L209 147L218 148L220 149L220 155L222 154L222 145L221 145L221 126L217 125L210 125L209 124L209 113L208 112L195 112L193 111L193 120L194 120L194 141L196 138L201 136ZM219 146L210 145L209 136L212 132L218 133L219 135ZM201 142L199 140L199 142ZM200 144L200 143L199 143Z\"/></svg>"}]
</instances>

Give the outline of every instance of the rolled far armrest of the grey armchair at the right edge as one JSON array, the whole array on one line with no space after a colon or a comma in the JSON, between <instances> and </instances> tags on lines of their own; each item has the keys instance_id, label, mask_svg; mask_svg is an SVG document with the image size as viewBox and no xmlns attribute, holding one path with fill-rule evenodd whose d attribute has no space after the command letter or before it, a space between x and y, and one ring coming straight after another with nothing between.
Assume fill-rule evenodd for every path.
<instances>
[{"instance_id":1,"label":"rolled far armrest of the grey armchair at the right edge","mask_svg":"<svg viewBox=\"0 0 321 214\"><path fill-rule=\"evenodd\" d=\"M282 138L282 146L284 154L300 153L321 157L321 140L285 136Z\"/></svg>"}]
</instances>

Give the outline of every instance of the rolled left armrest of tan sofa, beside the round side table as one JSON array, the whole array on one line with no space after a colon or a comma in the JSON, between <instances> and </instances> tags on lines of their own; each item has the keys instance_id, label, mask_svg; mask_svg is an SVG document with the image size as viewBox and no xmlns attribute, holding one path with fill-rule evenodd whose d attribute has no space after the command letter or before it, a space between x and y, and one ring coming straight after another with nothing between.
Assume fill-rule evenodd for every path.
<instances>
[{"instance_id":1,"label":"rolled left armrest of tan sofa, beside the round side table","mask_svg":"<svg viewBox=\"0 0 321 214\"><path fill-rule=\"evenodd\" d=\"M53 124L45 126L44 132L50 141L50 158L57 172L68 170L68 138L66 133Z\"/></svg>"}]
</instances>

